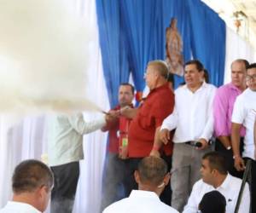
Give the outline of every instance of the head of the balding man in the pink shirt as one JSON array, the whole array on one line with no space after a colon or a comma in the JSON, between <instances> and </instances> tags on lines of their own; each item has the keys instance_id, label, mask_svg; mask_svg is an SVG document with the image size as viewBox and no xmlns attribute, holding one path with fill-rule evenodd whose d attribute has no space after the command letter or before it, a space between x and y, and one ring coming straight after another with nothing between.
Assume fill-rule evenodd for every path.
<instances>
[{"instance_id":1,"label":"head of the balding man in the pink shirt","mask_svg":"<svg viewBox=\"0 0 256 213\"><path fill-rule=\"evenodd\" d=\"M244 89L246 87L247 60L237 59L231 64L231 83L237 88Z\"/></svg>"}]
</instances>

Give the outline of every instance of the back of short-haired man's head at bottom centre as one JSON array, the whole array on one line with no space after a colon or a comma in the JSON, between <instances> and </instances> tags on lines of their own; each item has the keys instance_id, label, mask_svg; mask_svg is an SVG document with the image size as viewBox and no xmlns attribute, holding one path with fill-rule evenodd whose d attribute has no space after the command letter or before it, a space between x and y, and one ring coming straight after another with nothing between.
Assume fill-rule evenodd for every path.
<instances>
[{"instance_id":1,"label":"back of short-haired man's head at bottom centre","mask_svg":"<svg viewBox=\"0 0 256 213\"><path fill-rule=\"evenodd\" d=\"M164 159L153 156L143 158L134 174L138 188L160 195L170 180L167 170Z\"/></svg>"}]
</instances>

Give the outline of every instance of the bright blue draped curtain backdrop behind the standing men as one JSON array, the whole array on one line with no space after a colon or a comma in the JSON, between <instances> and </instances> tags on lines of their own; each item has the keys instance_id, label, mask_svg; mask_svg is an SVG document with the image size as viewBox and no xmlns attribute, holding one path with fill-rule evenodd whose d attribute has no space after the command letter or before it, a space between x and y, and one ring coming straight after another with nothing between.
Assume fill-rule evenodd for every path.
<instances>
[{"instance_id":1,"label":"bright blue draped curtain backdrop behind the standing men","mask_svg":"<svg viewBox=\"0 0 256 213\"><path fill-rule=\"evenodd\" d=\"M121 80L131 72L142 91L149 60L165 60L166 27L177 18L183 58L201 60L211 83L224 81L225 24L200 0L96 0L103 69L111 106ZM120 37L122 35L122 37ZM124 76L119 72L124 72ZM122 77L122 78L121 78ZM176 77L176 87L183 78Z\"/></svg>"}]
</instances>

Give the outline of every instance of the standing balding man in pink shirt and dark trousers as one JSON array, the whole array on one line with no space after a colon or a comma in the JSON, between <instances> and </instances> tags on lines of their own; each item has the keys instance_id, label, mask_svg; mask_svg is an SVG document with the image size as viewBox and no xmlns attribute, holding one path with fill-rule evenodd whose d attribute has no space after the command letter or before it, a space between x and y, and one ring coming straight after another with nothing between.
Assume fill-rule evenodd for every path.
<instances>
[{"instance_id":1,"label":"standing balding man in pink shirt and dark trousers","mask_svg":"<svg viewBox=\"0 0 256 213\"><path fill-rule=\"evenodd\" d=\"M231 82L217 89L213 101L214 132L216 136L215 149L225 155L228 170L232 176L242 177L234 167L231 147L231 117L236 97L247 88L246 76L248 61L234 60L231 64ZM240 141L243 143L244 127L241 127Z\"/></svg>"}]
</instances>

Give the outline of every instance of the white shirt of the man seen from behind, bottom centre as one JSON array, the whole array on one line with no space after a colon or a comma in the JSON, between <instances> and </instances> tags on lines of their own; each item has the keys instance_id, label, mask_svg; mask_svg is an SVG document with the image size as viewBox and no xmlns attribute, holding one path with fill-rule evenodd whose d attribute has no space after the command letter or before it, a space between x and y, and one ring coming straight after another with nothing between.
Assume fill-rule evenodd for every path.
<instances>
[{"instance_id":1,"label":"white shirt of the man seen from behind, bottom centre","mask_svg":"<svg viewBox=\"0 0 256 213\"><path fill-rule=\"evenodd\" d=\"M103 213L178 213L154 192L132 190L130 197L109 205Z\"/></svg>"}]
</instances>

